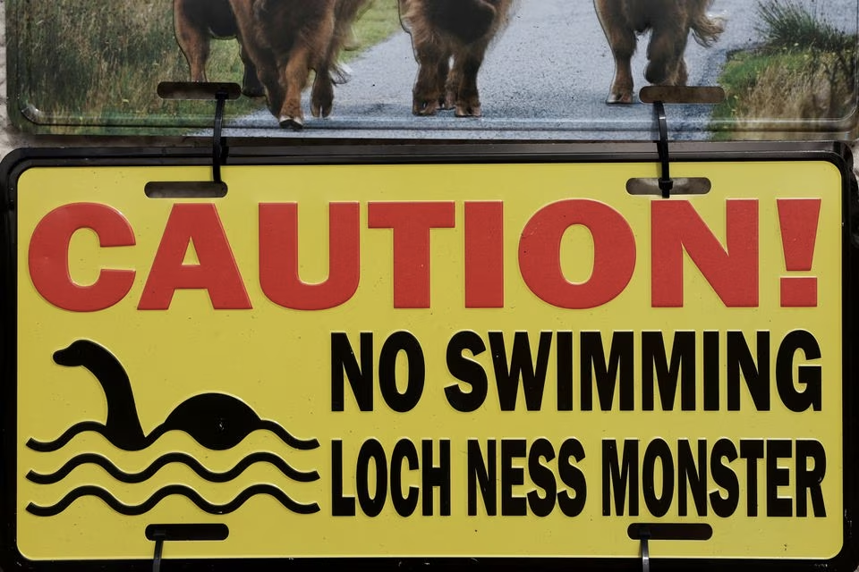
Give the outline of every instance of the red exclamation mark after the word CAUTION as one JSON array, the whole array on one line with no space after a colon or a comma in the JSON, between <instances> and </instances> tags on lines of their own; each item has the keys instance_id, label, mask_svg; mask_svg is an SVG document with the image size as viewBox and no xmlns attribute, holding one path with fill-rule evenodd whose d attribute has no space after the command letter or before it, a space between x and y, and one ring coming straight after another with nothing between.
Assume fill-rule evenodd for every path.
<instances>
[{"instance_id":1,"label":"red exclamation mark after the word CAUTION","mask_svg":"<svg viewBox=\"0 0 859 572\"><path fill-rule=\"evenodd\" d=\"M787 272L811 271L820 218L820 198L778 199ZM817 277L782 276L781 307L817 307Z\"/></svg>"}]
</instances>

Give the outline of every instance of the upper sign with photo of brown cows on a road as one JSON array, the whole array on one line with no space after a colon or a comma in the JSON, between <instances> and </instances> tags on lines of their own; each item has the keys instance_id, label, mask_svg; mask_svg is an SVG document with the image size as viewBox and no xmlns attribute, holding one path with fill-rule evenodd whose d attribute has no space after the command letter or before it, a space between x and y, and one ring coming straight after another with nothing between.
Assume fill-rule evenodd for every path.
<instances>
[{"instance_id":1,"label":"upper sign with photo of brown cows on a road","mask_svg":"<svg viewBox=\"0 0 859 572\"><path fill-rule=\"evenodd\" d=\"M24 130L651 139L641 88L721 88L669 109L674 139L852 139L856 0L8 0L10 114ZM668 6L668 8L666 7Z\"/></svg>"}]
</instances>

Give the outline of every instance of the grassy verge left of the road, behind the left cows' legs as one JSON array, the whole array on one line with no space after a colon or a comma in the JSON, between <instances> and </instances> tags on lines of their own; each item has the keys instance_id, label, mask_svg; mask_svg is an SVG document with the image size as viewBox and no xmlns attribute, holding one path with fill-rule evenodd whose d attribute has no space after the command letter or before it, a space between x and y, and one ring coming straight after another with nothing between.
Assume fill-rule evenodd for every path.
<instances>
[{"instance_id":1,"label":"grassy verge left of the road, behind the left cows' legs","mask_svg":"<svg viewBox=\"0 0 859 572\"><path fill-rule=\"evenodd\" d=\"M173 3L81 0L11 0L18 20L21 55L13 79L38 123L57 133L107 133L129 126L200 126L211 122L212 102L164 101L160 81L188 80L188 65L176 44ZM355 25L357 43L344 54L362 51L400 29L396 0L375 0ZM211 81L242 82L239 46L233 39L212 42L207 74ZM265 105L241 97L227 105L227 117ZM113 127L93 127L93 125ZM21 125L32 127L28 122ZM181 132L181 131L175 131Z\"/></svg>"}]
</instances>

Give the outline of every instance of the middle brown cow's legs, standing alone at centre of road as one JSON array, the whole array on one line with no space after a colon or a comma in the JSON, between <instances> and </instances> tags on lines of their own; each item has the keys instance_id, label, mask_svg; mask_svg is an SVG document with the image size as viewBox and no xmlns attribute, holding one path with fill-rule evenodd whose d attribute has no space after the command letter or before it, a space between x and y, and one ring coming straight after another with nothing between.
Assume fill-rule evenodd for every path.
<instances>
[{"instance_id":1,"label":"middle brown cow's legs, standing alone at centre of road","mask_svg":"<svg viewBox=\"0 0 859 572\"><path fill-rule=\"evenodd\" d=\"M489 43L506 24L513 0L399 2L419 65L412 113L433 115L438 109L455 109L457 117L480 117L477 76Z\"/></svg>"}]
</instances>

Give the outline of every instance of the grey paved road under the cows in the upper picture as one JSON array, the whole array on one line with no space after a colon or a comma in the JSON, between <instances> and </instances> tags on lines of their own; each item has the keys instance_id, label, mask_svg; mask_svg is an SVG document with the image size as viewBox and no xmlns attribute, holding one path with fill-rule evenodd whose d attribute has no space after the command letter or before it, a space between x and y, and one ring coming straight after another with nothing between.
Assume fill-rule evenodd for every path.
<instances>
[{"instance_id":1,"label":"grey paved road under the cows in the upper picture","mask_svg":"<svg viewBox=\"0 0 859 572\"><path fill-rule=\"evenodd\" d=\"M855 0L804 0L828 21L855 33ZM716 85L733 50L753 46L754 6L750 0L715 0L711 13L727 30L710 48L689 42L690 85ZM645 85L646 38L639 42L633 70L636 91ZM411 114L417 64L410 38L395 34L351 65L352 79L336 90L334 114L309 118L303 137L435 139L652 139L650 105L605 105L614 64L590 0L521 0L481 71L484 117L457 119ZM305 103L305 109L308 106ZM705 139L710 108L668 106L669 128L678 139ZM268 111L240 120L228 136L294 137L279 130Z\"/></svg>"}]
</instances>

